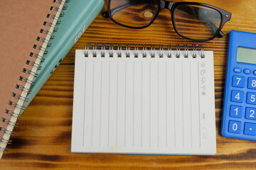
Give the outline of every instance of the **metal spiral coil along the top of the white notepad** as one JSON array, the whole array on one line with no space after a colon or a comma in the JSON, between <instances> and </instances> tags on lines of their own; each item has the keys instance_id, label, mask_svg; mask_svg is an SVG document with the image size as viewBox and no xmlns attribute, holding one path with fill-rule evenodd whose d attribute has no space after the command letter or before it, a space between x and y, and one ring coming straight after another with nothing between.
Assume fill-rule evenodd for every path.
<instances>
[{"instance_id":1,"label":"metal spiral coil along the top of the white notepad","mask_svg":"<svg viewBox=\"0 0 256 170\"><path fill-rule=\"evenodd\" d=\"M149 49L150 51L150 57L164 57L164 51L166 51L166 56L171 58L173 57L172 51L175 51L174 57L180 58L181 55L184 58L188 57L188 52L191 52L191 55L193 58L196 57L205 57L203 45L175 45L175 48L172 49L171 45L167 45L164 47L164 45L159 45L159 47L156 47L156 45L134 45L134 47L131 47L131 45L123 45L118 44L110 44L108 47L105 45L105 43L102 43L102 45L98 45L97 43L94 43L93 45L90 45L90 43L87 43L85 45L85 57L88 57L89 50L92 50L92 57L97 57L97 50L100 50L100 57L105 57L108 55L109 57L113 57L114 51L117 54L117 57L122 57L122 51L125 51L125 57L139 57L139 51L142 51L142 57L147 57L146 52ZM133 51L133 55L132 52ZM108 54L106 54L108 52ZM181 54L183 52L183 54ZM198 55L199 54L199 55Z\"/></svg>"}]
</instances>

